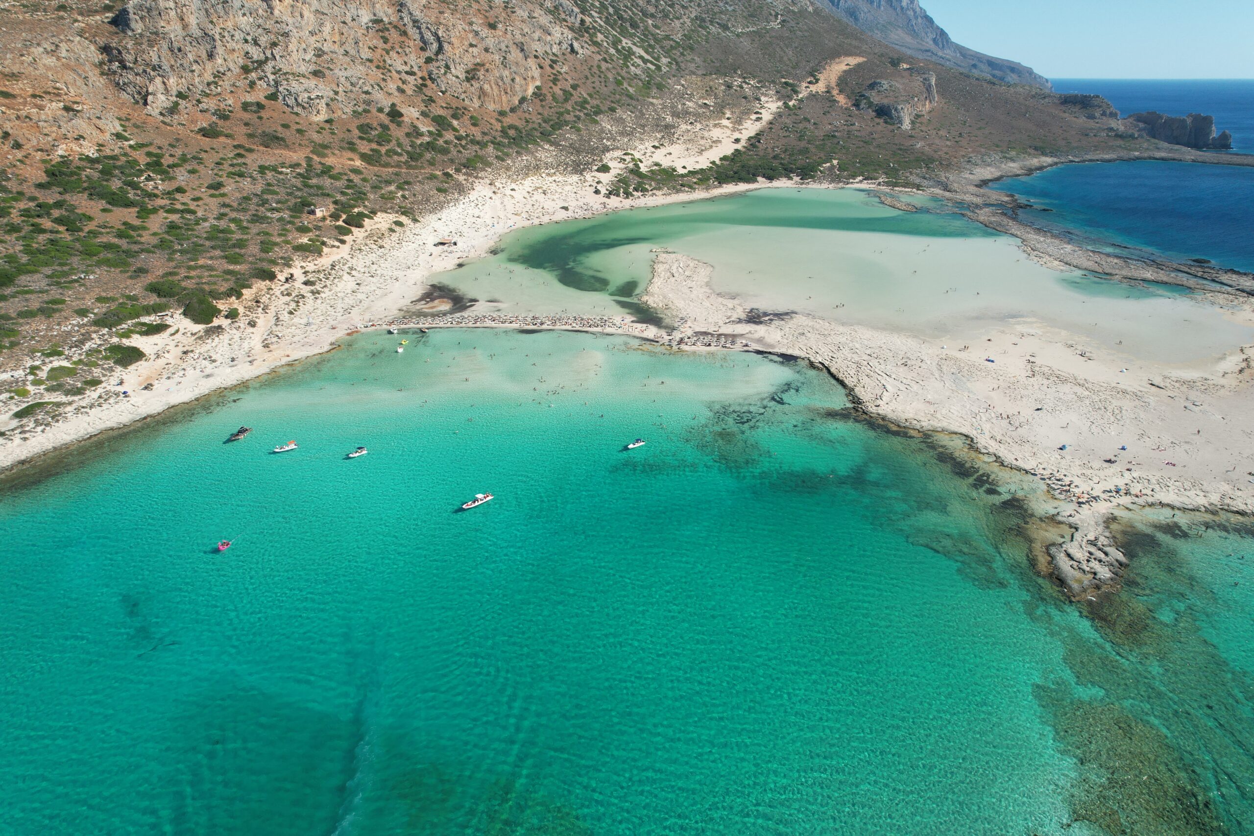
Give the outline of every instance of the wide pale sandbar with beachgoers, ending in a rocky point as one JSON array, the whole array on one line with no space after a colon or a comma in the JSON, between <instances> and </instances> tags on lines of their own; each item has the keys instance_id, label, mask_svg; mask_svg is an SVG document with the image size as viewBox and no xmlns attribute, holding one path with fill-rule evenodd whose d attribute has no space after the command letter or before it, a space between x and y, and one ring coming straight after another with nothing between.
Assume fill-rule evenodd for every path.
<instances>
[{"instance_id":1,"label":"wide pale sandbar with beachgoers, ending in a rocky point","mask_svg":"<svg viewBox=\"0 0 1254 836\"><path fill-rule=\"evenodd\" d=\"M809 315L751 323L747 308L711 290L711 273L687 256L661 253L645 301L678 322L681 335L731 335L806 357L868 411L962 434L1037 475L1076 529L1050 548L1072 595L1117 584L1124 556L1105 529L1117 508L1254 511L1254 370L1245 348L1213 370L1185 371L1088 347L1081 353L1071 335L1046 327L1001 327L963 350Z\"/></svg>"}]
</instances>

